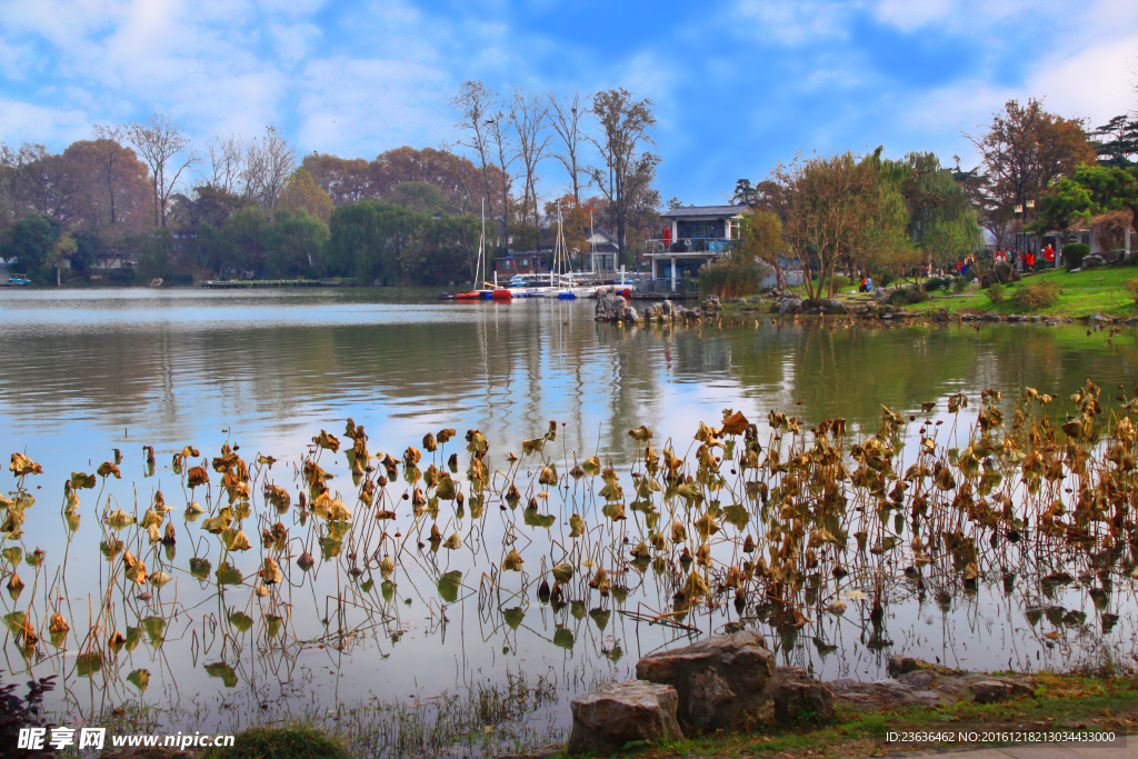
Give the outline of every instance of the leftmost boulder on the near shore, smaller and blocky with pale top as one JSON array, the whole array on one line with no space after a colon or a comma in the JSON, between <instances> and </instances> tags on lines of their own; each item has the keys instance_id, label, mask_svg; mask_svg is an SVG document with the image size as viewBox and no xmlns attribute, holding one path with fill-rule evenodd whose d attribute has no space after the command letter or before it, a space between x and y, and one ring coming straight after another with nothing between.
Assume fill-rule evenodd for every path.
<instances>
[{"instance_id":1,"label":"leftmost boulder on the near shore, smaller and blocky with pale top","mask_svg":"<svg viewBox=\"0 0 1138 759\"><path fill-rule=\"evenodd\" d=\"M570 703L569 753L612 753L633 741L684 737L676 720L679 698L667 685L628 680L609 683Z\"/></svg>"}]
</instances>

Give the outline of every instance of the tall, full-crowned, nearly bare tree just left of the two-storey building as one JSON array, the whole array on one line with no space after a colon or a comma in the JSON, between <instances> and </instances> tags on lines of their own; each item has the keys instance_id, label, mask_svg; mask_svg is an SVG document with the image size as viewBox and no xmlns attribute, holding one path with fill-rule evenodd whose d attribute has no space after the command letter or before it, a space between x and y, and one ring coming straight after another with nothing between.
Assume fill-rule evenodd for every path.
<instances>
[{"instance_id":1,"label":"tall, full-crowned, nearly bare tree just left of the two-storey building","mask_svg":"<svg viewBox=\"0 0 1138 759\"><path fill-rule=\"evenodd\" d=\"M652 101L633 100L624 88L604 90L593 96L593 115L601 124L600 138L589 138L604 159L603 166L591 166L588 174L612 204L617 221L619 261L629 264L626 248L626 225L629 211L640 197L651 191L660 157L649 151L637 155L641 146L655 146L649 130L655 126Z\"/></svg>"}]
</instances>

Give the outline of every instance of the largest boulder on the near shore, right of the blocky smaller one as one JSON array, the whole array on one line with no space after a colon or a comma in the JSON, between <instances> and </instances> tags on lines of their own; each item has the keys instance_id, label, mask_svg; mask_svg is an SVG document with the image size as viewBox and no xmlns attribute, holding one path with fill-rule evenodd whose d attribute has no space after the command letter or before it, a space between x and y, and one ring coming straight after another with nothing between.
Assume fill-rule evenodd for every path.
<instances>
[{"instance_id":1,"label":"largest boulder on the near shore, right of the blocky smaller one","mask_svg":"<svg viewBox=\"0 0 1138 759\"><path fill-rule=\"evenodd\" d=\"M774 676L775 657L754 630L717 635L636 662L640 679L676 688L679 721L695 732L769 721Z\"/></svg>"}]
</instances>

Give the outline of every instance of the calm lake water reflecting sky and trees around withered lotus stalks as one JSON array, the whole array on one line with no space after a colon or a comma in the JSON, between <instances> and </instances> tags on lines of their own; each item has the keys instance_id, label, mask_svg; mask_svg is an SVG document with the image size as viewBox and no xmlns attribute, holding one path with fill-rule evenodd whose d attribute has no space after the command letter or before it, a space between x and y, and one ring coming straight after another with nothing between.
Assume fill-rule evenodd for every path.
<instances>
[{"instance_id":1,"label":"calm lake water reflecting sky and trees around withered lotus stalks","mask_svg":"<svg viewBox=\"0 0 1138 759\"><path fill-rule=\"evenodd\" d=\"M882 404L909 415L920 413L923 402L937 402L933 418L948 421L946 398L966 394L973 405L955 428L963 436L984 389L1003 390L1011 415L1011 398L1028 386L1065 397L1090 379L1106 388L1108 404L1119 383L1129 387L1138 377L1132 328L1110 337L1088 335L1081 325L819 327L775 324L766 314L749 314L742 325L637 328L594 322L588 300L454 304L435 300L432 292L396 289L6 290L0 312L3 453L24 453L44 471L27 478L36 505L26 511L23 538L6 541L5 547L22 546L25 555L35 547L46 552L40 567L18 564L26 587L18 600L0 596L3 613L25 611L47 620L61 610L72 627L59 646L44 637L26 657L9 634L8 669L19 677L59 675L66 688L57 688L53 706L69 709L75 719L147 703L178 707L181 711L163 717L163 725L179 729L249 724L266 712L325 715L337 704L358 707L369 700L424 704L443 693L502 684L510 673L552 684L555 700L535 715L542 729L555 732L567 726L569 694L599 680L632 677L641 655L739 619L729 603L721 603L682 617L683 625L649 626L648 619L671 609L670 589L651 571L643 581L624 583L627 594L591 596L564 609L541 603L539 564L547 569L563 559L561 547L571 543L564 537L568 514L556 497L541 505L555 517L552 528L520 525L496 501L487 502L480 520L444 505L437 520L444 537L461 533L464 545L431 552L430 546L415 548L422 526L411 523L410 505L399 498L412 486L393 478L386 489L399 518L376 527L357 513L356 533L363 525L368 533L322 560L324 527L315 517L304 525L296 517L302 487L294 467L311 454L312 438L322 429L351 448L344 436L348 418L365 428L372 455L389 453L397 460L407 446L421 448L424 434L453 428L457 438L444 452L462 454L460 472L467 461L462 436L478 429L489 442L489 469L516 472L521 487L542 464L531 455L511 469L508 454L521 455L522 442L541 437L551 420L558 437L546 444L545 455L558 462L559 477L575 464L575 453L576 461L596 455L627 473L637 451L628 430L641 424L653 430L658 451L670 439L683 456L694 452L690 446L699 422L718 423L727 409L759 422L764 436L770 410L798 415L807 427L842 416L851 432L872 434ZM914 434L908 429L904 437ZM203 492L183 490L173 455L192 445L203 457L217 456L226 442L239 446L250 468L257 454L278 460L271 470L258 468L257 477L292 494L292 509L280 519L296 550L286 552L282 568L300 548L318 559L308 574L291 567L288 580L267 597L257 596L254 586L264 555L258 537L271 520L262 525L250 518L245 530L253 550L226 559L218 539L182 514L191 497L203 501ZM142 446L154 447L152 473ZM60 508L64 481L72 472L93 472L114 461L115 448L123 456L122 479L80 490L81 522L68 539ZM434 461L443 468L443 459L423 455L421 467ZM347 508L365 511L352 493L344 449L325 451L319 461L335 476L329 486ZM216 502L221 475L211 469L209 476ZM15 489L10 473L3 480L3 492ZM141 519L157 489L174 506L167 521L175 526L175 550L150 546L133 526L118 534L126 550L147 556L149 571L160 566L173 579L160 589L135 588L122 579L121 569L112 576L121 559L108 562L100 554L100 539L116 534L100 526L100 517L121 508ZM536 487L526 489L523 500L536 493ZM576 490L571 497L576 510ZM404 535L387 535L393 529ZM603 556L615 555L615 541L619 548L621 533L605 530L588 550L569 552L578 576L592 570L592 560L604 563ZM520 551L526 576L492 593L486 578L496 575L506 544L526 547ZM348 558L356 551L358 559ZM371 553L374 563L368 566ZM396 558L389 586L377 570L381 554ZM214 569L232 561L245 581L218 592L215 581L188 571L191 556L208 558ZM364 574L353 575L354 567ZM900 562L893 569L900 576ZM461 572L457 593L440 591L439 577L455 571ZM372 577L361 593L357 586ZM146 589L154 597L138 600ZM353 593L370 601L337 602ZM1048 603L1081 609L1094 626L1096 611L1132 611L1132 583L1116 584L1111 593L1107 605L1096 605L1087 587L1075 583L1050 593ZM1023 614L1039 605L1038 599L1006 593L999 577L981 583L978 593L954 595L950 603L924 596L891 596L891 645L867 645L865 614L857 618L852 611L811 621L797 637L767 632L782 661L827 678L879 679L888 655L902 652L963 668L1021 670L1090 661L1104 650L1132 653L1132 614L1123 614L1108 634L1073 634L1056 645ZM270 617L284 620L284 632L275 637L264 628ZM242 625L246 618L251 627ZM148 619L160 620L159 634L146 626ZM101 633L89 638L92 626ZM99 635L131 627L145 630L142 644L100 654L101 668L88 671L82 661L90 660L77 654L97 650ZM140 693L127 675L141 669L149 682Z\"/></svg>"}]
</instances>

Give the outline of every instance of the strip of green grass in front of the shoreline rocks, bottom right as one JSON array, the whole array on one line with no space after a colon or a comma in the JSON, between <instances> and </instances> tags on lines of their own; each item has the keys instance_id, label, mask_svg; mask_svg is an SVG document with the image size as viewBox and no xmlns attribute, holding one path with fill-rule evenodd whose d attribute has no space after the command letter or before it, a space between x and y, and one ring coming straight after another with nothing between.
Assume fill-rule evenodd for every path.
<instances>
[{"instance_id":1,"label":"strip of green grass in front of the shoreline rocks, bottom right","mask_svg":"<svg viewBox=\"0 0 1138 759\"><path fill-rule=\"evenodd\" d=\"M764 756L868 757L883 752L929 750L935 744L885 744L889 732L986 729L1081 729L1130 732L1138 723L1138 680L1038 675L1033 696L998 704L962 702L951 707L904 707L877 712L840 708L834 720L806 728L766 728L753 733L716 733L615 754L638 759L665 757ZM947 748L943 744L940 748Z\"/></svg>"}]
</instances>

